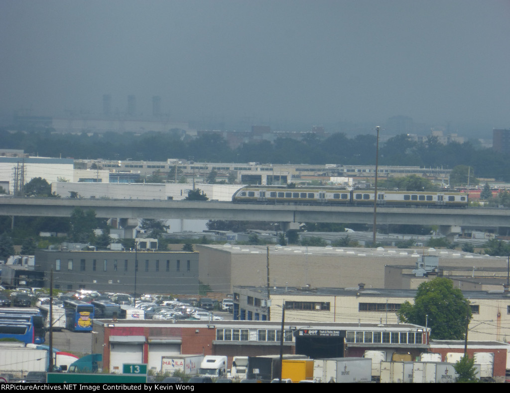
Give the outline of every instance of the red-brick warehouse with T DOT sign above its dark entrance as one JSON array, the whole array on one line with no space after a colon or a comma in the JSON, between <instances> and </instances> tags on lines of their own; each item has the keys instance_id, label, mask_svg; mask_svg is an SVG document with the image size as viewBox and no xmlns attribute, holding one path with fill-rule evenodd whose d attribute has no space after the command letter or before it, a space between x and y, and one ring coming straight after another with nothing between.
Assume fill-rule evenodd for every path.
<instances>
[{"instance_id":1,"label":"red-brick warehouse with T DOT sign above its dark entrance","mask_svg":"<svg viewBox=\"0 0 510 393\"><path fill-rule=\"evenodd\" d=\"M234 356L277 355L280 322L250 321L130 321L95 320L92 351L103 354L104 371L119 372L123 363L146 363L159 371L163 356L223 355L229 366ZM427 331L412 324L286 323L284 353L311 358L358 356L365 350L410 352L415 356L428 348ZM402 337L402 343L356 343L348 337L360 332L368 337L386 334ZM405 336L405 343L403 337ZM351 353L352 352L352 353ZM505 353L506 356L506 353Z\"/></svg>"}]
</instances>

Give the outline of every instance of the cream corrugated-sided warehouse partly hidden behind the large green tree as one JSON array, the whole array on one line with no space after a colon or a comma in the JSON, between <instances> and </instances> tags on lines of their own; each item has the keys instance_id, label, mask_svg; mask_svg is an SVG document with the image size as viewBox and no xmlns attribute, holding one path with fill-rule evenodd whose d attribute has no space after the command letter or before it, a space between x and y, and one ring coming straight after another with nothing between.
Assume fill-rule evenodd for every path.
<instances>
[{"instance_id":1,"label":"cream corrugated-sided warehouse partly hidden behind the large green tree","mask_svg":"<svg viewBox=\"0 0 510 393\"><path fill-rule=\"evenodd\" d=\"M398 324L401 304L413 303L416 295L412 289L271 286L268 307L267 292L267 287L234 287L234 318L278 321L285 302L285 320L289 322ZM468 339L510 342L510 293L463 291L463 295L469 300L473 315Z\"/></svg>"}]
</instances>

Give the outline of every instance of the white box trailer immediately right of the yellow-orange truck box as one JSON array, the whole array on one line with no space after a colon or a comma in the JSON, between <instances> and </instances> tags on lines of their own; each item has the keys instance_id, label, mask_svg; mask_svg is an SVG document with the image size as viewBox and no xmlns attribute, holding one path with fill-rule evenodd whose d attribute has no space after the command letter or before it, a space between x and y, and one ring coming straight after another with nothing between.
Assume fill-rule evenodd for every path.
<instances>
[{"instance_id":1,"label":"white box trailer immediately right of the yellow-orange truck box","mask_svg":"<svg viewBox=\"0 0 510 393\"><path fill-rule=\"evenodd\" d=\"M318 382L370 382L372 359L345 357L314 359L314 380Z\"/></svg>"}]
</instances>

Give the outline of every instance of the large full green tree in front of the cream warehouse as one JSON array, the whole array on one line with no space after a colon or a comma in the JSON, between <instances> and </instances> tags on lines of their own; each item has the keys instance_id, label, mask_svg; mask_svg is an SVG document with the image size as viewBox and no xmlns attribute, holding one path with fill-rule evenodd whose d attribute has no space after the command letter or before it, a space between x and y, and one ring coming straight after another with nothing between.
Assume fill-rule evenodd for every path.
<instances>
[{"instance_id":1,"label":"large full green tree in front of the cream warehouse","mask_svg":"<svg viewBox=\"0 0 510 393\"><path fill-rule=\"evenodd\" d=\"M463 340L471 308L462 291L450 279L438 277L418 286L414 305L404 302L398 310L400 322L430 327L437 340Z\"/></svg>"}]
</instances>

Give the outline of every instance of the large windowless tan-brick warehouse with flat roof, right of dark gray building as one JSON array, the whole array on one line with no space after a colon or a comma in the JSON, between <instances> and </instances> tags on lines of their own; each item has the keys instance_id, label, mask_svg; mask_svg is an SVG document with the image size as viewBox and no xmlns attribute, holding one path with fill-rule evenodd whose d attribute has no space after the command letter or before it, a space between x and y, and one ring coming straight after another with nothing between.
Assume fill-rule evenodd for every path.
<instances>
[{"instance_id":1,"label":"large windowless tan-brick warehouse with flat roof, right of dark gray building","mask_svg":"<svg viewBox=\"0 0 510 393\"><path fill-rule=\"evenodd\" d=\"M355 287L415 289L427 277L410 275L422 257L436 257L445 276L493 277L490 289L503 289L507 261L499 257L434 249L367 249L281 245L197 244L200 281L215 292L236 285L271 287ZM394 269L389 267L395 266ZM477 281L480 282L480 281ZM466 289L486 289L481 284Z\"/></svg>"}]
</instances>

